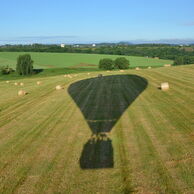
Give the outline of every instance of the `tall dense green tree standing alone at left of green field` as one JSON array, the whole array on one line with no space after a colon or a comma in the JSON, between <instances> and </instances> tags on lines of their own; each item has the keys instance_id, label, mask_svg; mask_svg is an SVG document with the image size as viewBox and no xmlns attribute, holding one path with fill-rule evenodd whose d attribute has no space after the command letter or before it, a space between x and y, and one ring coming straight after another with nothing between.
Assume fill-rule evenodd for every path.
<instances>
[{"instance_id":1,"label":"tall dense green tree standing alone at left of green field","mask_svg":"<svg viewBox=\"0 0 194 194\"><path fill-rule=\"evenodd\" d=\"M29 54L18 57L16 71L19 75L30 75L33 73L33 60Z\"/></svg>"}]
</instances>

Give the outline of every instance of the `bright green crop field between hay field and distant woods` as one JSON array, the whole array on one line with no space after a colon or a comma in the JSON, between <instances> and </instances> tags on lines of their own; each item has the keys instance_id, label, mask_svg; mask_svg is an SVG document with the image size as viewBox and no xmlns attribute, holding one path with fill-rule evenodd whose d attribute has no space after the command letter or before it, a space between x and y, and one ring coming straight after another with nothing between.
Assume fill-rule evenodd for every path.
<instances>
[{"instance_id":1,"label":"bright green crop field between hay field and distant woods","mask_svg":"<svg viewBox=\"0 0 194 194\"><path fill-rule=\"evenodd\" d=\"M0 66L9 65L15 68L17 57L20 54L17 52L0 52ZM116 59L117 55L97 55L97 54L74 54L74 53L30 53L34 60L35 68L63 68L63 67L96 67L99 60L102 58ZM136 66L163 66L164 64L172 64L170 60L160 60L145 57L126 56L130 61L131 67Z\"/></svg>"}]
</instances>

